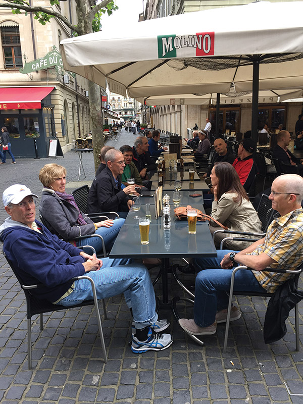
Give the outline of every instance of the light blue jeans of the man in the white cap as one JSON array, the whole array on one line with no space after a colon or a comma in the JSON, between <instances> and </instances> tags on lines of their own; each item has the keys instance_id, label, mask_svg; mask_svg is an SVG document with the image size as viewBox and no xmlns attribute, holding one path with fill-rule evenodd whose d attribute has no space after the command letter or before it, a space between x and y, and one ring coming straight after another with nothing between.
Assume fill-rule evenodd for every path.
<instances>
[{"instance_id":1,"label":"light blue jeans of the man in the white cap","mask_svg":"<svg viewBox=\"0 0 303 404\"><path fill-rule=\"evenodd\" d=\"M132 308L136 328L144 328L158 320L153 284L147 269L127 259L102 260L99 271L85 273L93 279L98 299L124 293L126 304ZM90 282L87 279L75 281L73 292L61 299L58 305L72 306L92 299Z\"/></svg>"}]
</instances>

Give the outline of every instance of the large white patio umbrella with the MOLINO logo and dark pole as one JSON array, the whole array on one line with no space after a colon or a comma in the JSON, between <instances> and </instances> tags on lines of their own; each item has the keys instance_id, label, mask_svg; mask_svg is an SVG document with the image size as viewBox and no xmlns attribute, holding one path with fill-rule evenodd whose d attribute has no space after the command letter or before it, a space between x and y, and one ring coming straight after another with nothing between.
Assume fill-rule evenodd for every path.
<instances>
[{"instance_id":1,"label":"large white patio umbrella with the MOLINO logo and dark pole","mask_svg":"<svg viewBox=\"0 0 303 404\"><path fill-rule=\"evenodd\" d=\"M254 130L258 83L303 87L302 12L303 2L258 2L115 26L63 40L62 59L66 70L135 98L224 93L232 82L251 91L254 81Z\"/></svg>"}]
</instances>

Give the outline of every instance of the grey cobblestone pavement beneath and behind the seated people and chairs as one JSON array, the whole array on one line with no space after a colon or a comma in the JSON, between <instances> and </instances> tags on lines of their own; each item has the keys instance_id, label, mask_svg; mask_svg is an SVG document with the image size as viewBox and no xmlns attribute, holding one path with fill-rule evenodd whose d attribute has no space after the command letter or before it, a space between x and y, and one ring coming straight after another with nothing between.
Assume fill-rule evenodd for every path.
<instances>
[{"instance_id":1,"label":"grey cobblestone pavement beneath and behind the seated people and chairs","mask_svg":"<svg viewBox=\"0 0 303 404\"><path fill-rule=\"evenodd\" d=\"M124 130L115 145L135 138ZM130 144L132 145L132 144ZM118 147L117 146L117 147ZM2 191L13 183L28 185L41 194L40 168L49 162L67 168L68 189L78 182L79 159L74 151L58 159L19 159L0 167ZM83 154L87 183L93 179L91 154ZM83 180L83 173L81 173ZM85 181L86 181L85 180ZM0 220L6 218L1 207ZM67 310L32 322L33 369L27 368L24 294L6 260L0 256L0 401L2 404L136 403L136 404L267 404L303 403L303 350L294 351L294 317L285 338L265 345L262 335L266 304L262 298L238 299L243 316L231 323L228 350L223 354L224 324L198 346L180 329L171 311L174 343L161 352L132 354L130 313L121 296L107 301L109 319L103 321L109 362L104 364L93 309ZM156 272L152 271L152 276ZM183 278L192 283L190 275ZM171 296L182 295L170 278ZM161 296L160 285L156 294ZM181 316L192 307L180 305ZM303 309L300 308L300 324ZM301 335L302 335L302 325Z\"/></svg>"}]
</instances>

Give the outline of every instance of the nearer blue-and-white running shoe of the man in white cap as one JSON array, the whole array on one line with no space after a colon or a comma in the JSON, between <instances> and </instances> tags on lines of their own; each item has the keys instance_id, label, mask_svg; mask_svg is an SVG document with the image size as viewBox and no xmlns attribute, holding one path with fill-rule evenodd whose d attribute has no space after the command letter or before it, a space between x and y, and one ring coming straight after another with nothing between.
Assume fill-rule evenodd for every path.
<instances>
[{"instance_id":1,"label":"nearer blue-and-white running shoe of the man in white cap","mask_svg":"<svg viewBox=\"0 0 303 404\"><path fill-rule=\"evenodd\" d=\"M131 350L135 354L143 354L148 350L163 350L168 348L173 343L173 337L171 334L162 334L156 332L149 327L147 339L145 341L139 341L136 334L133 335Z\"/></svg>"}]
</instances>

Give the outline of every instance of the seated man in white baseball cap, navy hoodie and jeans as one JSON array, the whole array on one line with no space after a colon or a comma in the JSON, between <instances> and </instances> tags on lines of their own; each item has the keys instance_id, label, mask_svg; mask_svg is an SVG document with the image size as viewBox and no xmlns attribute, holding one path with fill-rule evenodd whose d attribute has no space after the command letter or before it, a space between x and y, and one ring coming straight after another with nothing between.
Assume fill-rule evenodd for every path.
<instances>
[{"instance_id":1,"label":"seated man in white baseball cap, navy hoodie and jeans","mask_svg":"<svg viewBox=\"0 0 303 404\"><path fill-rule=\"evenodd\" d=\"M10 217L0 226L5 255L23 283L40 284L32 293L55 305L73 306L75 302L93 298L86 279L71 280L86 274L94 280L98 299L124 293L134 320L133 352L169 347L173 338L161 331L170 323L158 320L155 291L147 269L128 259L98 260L95 254L90 256L59 239L35 221L33 198L37 195L25 185L7 188L3 192L3 203Z\"/></svg>"}]
</instances>

